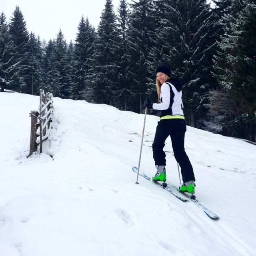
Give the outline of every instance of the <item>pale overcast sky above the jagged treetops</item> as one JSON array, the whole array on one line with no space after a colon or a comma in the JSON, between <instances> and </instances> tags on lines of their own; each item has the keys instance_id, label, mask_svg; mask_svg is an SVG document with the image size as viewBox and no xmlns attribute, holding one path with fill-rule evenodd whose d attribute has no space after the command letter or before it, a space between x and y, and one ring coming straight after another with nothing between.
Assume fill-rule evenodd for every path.
<instances>
[{"instance_id":1,"label":"pale overcast sky above the jagged treetops","mask_svg":"<svg viewBox=\"0 0 256 256\"><path fill-rule=\"evenodd\" d=\"M18 5L27 24L28 32L33 31L41 40L56 38L61 28L67 43L74 42L82 15L97 28L106 0L0 0L0 12L7 21L13 16ZM112 0L117 12L119 0ZM131 2L130 0L127 2Z\"/></svg>"}]
</instances>

